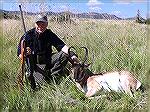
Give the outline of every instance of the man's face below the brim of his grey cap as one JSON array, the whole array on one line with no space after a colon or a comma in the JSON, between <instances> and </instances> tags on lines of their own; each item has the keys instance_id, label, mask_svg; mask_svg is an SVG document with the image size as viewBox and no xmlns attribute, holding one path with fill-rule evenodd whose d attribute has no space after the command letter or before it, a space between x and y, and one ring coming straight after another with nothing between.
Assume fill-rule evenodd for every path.
<instances>
[{"instance_id":1,"label":"man's face below the brim of his grey cap","mask_svg":"<svg viewBox=\"0 0 150 112\"><path fill-rule=\"evenodd\" d=\"M35 28L38 33L43 33L46 30L47 26L48 23L46 22L39 21L35 23Z\"/></svg>"}]
</instances>

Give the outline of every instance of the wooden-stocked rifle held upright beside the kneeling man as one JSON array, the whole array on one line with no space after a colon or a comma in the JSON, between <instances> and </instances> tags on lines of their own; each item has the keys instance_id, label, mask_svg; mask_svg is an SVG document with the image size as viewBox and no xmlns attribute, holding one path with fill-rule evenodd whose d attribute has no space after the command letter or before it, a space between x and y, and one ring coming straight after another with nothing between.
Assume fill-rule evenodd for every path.
<instances>
[{"instance_id":1,"label":"wooden-stocked rifle held upright beside the kneeling man","mask_svg":"<svg viewBox=\"0 0 150 112\"><path fill-rule=\"evenodd\" d=\"M20 8L20 14L21 14L21 19L24 27L24 32L26 33L26 28L25 28L25 23L24 23L24 18L23 18L23 13L21 9L21 5L19 5ZM23 78L24 78L24 73L25 73L25 39L21 41L21 73L18 75L18 86L19 89L23 88Z\"/></svg>"}]
</instances>

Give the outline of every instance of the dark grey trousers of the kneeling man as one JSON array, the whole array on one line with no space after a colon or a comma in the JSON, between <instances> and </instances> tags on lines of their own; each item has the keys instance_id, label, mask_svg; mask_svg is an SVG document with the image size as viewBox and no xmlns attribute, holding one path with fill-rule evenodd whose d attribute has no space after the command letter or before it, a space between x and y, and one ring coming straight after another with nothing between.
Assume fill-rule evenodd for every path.
<instances>
[{"instance_id":1,"label":"dark grey trousers of the kneeling man","mask_svg":"<svg viewBox=\"0 0 150 112\"><path fill-rule=\"evenodd\" d=\"M67 62L69 61L68 55L65 54L63 51L60 51L58 53L53 53L51 56L51 62L50 65L45 64L45 68L41 69L37 66L35 63L35 59L33 55L28 55L26 57L26 63L27 63L27 72L28 72L28 80L30 82L31 88L34 90L36 88L36 81L33 76L34 72L41 73L45 80L51 80L52 77L59 77L62 74L64 74L65 66L67 65Z\"/></svg>"}]
</instances>

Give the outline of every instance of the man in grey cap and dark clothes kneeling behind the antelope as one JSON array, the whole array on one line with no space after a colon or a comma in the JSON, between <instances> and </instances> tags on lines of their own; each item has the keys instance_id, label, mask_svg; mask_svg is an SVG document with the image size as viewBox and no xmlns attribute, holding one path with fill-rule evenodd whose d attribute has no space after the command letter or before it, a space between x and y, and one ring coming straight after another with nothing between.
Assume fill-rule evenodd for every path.
<instances>
[{"instance_id":1,"label":"man in grey cap and dark clothes kneeling behind the antelope","mask_svg":"<svg viewBox=\"0 0 150 112\"><path fill-rule=\"evenodd\" d=\"M17 55L21 55L21 41L25 41L25 61L27 64L28 80L33 90L36 89L36 81L33 73L42 73L45 80L52 76L61 75L69 61L67 45L50 29L47 29L48 19L46 15L38 15L35 27L27 31L20 39ZM52 46L58 52L54 53ZM71 58L77 60L75 53L71 53ZM38 65L45 64L44 71Z\"/></svg>"}]
</instances>

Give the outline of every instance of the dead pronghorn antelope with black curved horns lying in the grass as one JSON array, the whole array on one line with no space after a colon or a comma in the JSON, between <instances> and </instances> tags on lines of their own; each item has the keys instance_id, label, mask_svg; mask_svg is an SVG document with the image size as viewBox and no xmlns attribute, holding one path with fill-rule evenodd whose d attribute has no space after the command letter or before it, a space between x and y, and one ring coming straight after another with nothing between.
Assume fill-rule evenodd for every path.
<instances>
[{"instance_id":1,"label":"dead pronghorn antelope with black curved horns lying in the grass","mask_svg":"<svg viewBox=\"0 0 150 112\"><path fill-rule=\"evenodd\" d=\"M69 48L70 49L74 47ZM116 91L125 92L131 96L137 89L142 88L142 84L129 71L114 71L100 74L92 73L85 64L88 57L88 49L85 49L85 58L83 62L72 60L72 77L77 87L86 94L87 97L94 96L98 91Z\"/></svg>"}]
</instances>

